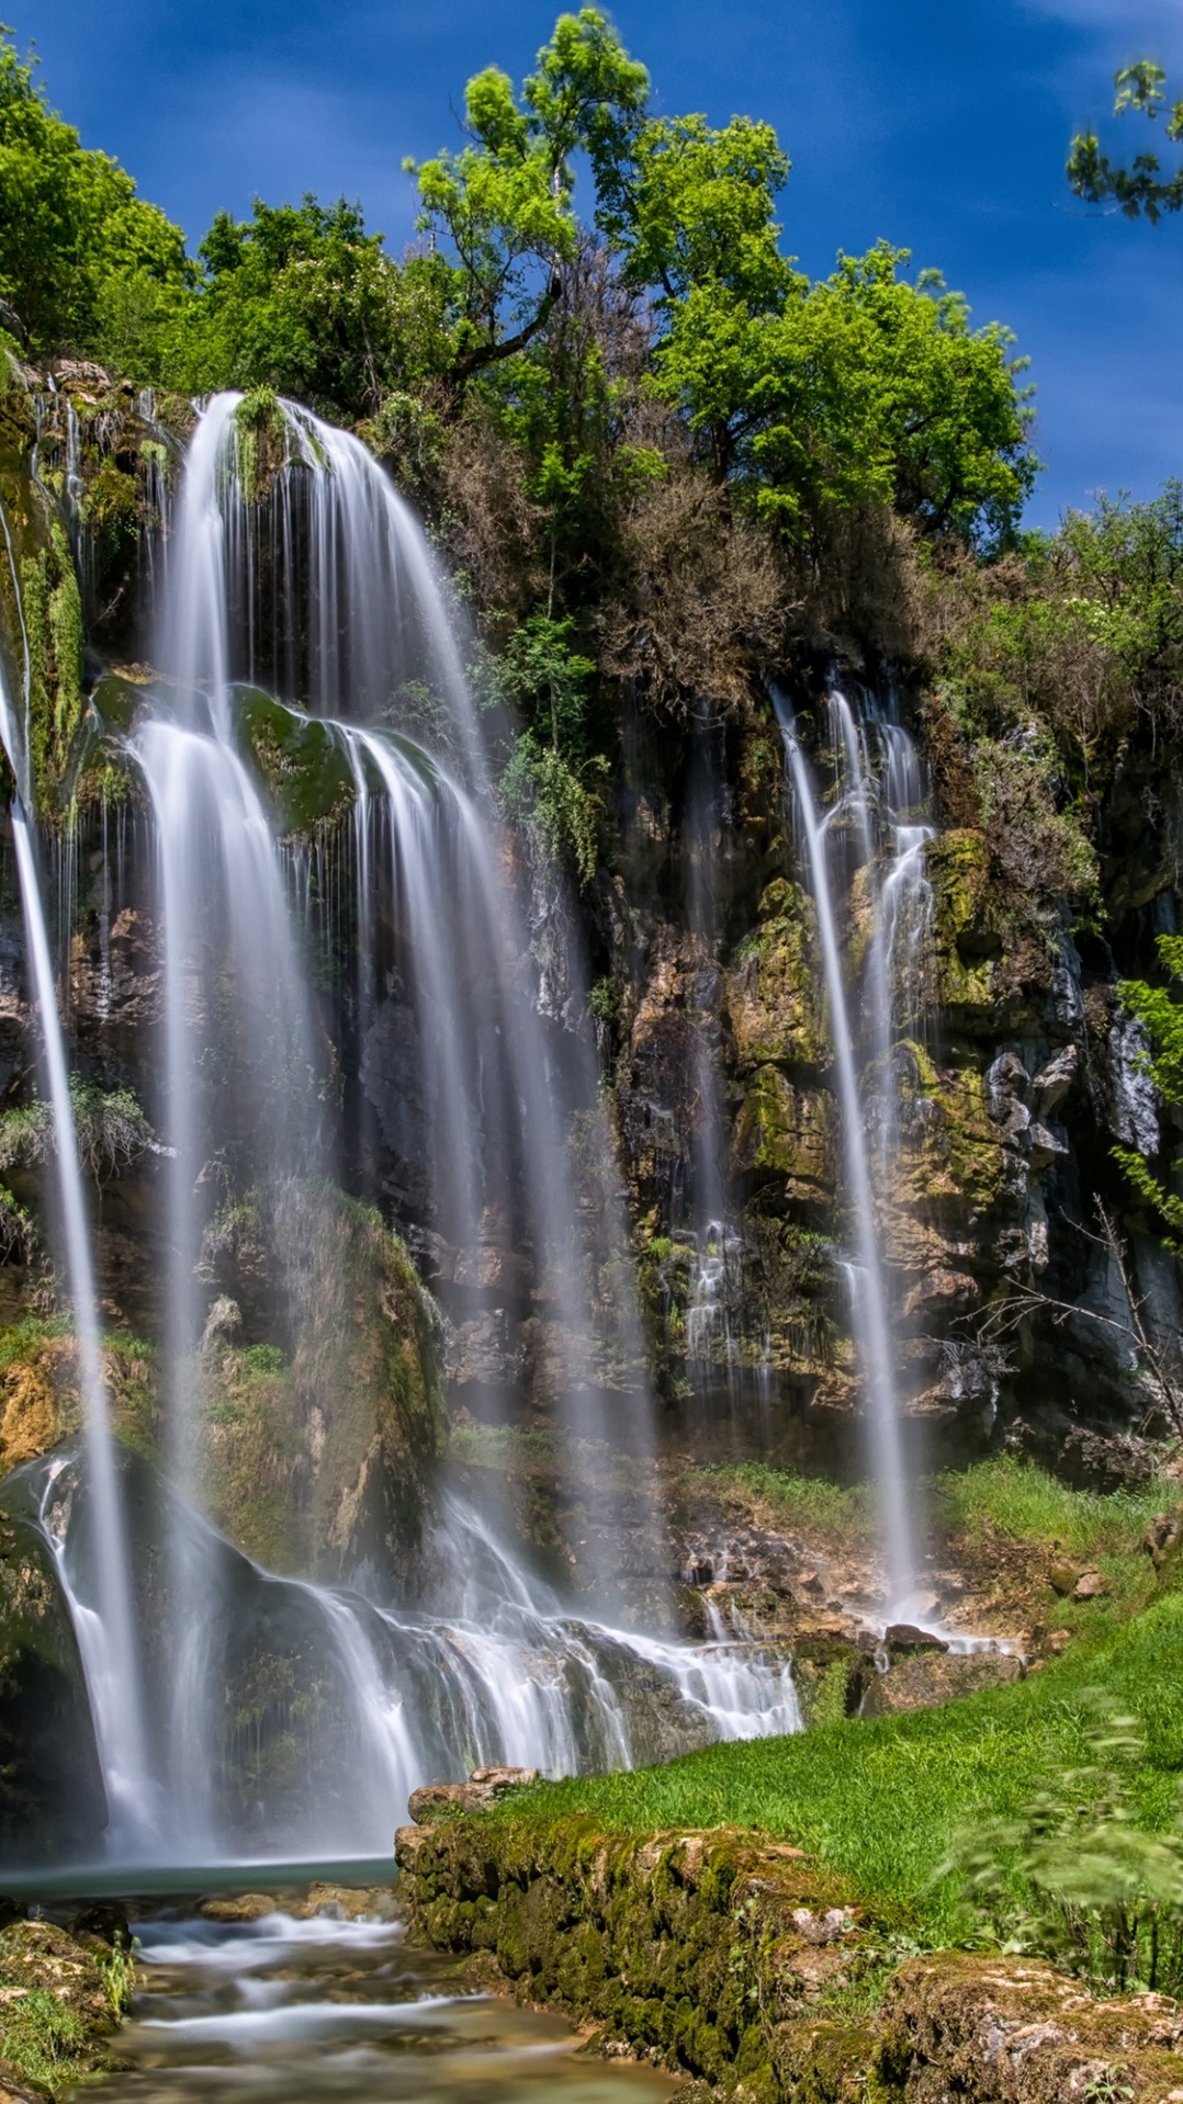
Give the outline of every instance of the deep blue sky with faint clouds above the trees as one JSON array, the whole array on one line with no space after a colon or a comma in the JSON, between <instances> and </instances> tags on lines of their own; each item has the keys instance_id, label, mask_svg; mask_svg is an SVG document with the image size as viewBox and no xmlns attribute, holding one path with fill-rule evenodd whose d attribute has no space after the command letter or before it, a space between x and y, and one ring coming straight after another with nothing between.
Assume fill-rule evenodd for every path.
<instances>
[{"instance_id":1,"label":"deep blue sky with faint clouds above the trees","mask_svg":"<svg viewBox=\"0 0 1183 2104\"><path fill-rule=\"evenodd\" d=\"M8 0L53 103L196 242L219 206L360 198L410 236L404 154L457 137L467 74L520 76L556 0ZM1183 476L1183 215L1069 198L1074 128L1141 55L1183 93L1183 0L619 0L659 107L768 118L794 160L785 246L821 274L880 236L1004 320L1038 385L1029 518ZM1118 145L1145 143L1124 120Z\"/></svg>"}]
</instances>

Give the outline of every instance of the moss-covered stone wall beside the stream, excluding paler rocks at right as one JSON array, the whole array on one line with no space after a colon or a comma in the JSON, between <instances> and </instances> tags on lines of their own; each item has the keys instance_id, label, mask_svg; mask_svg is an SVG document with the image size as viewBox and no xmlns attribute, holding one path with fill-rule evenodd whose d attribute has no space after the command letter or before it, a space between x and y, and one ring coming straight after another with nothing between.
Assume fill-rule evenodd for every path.
<instances>
[{"instance_id":1,"label":"moss-covered stone wall beside the stream, excluding paler rocks at right","mask_svg":"<svg viewBox=\"0 0 1183 2104\"><path fill-rule=\"evenodd\" d=\"M777 2026L874 1942L800 1849L726 1826L629 1837L581 1816L455 1818L402 1826L396 1852L415 1936L751 2098L777 2096Z\"/></svg>"}]
</instances>

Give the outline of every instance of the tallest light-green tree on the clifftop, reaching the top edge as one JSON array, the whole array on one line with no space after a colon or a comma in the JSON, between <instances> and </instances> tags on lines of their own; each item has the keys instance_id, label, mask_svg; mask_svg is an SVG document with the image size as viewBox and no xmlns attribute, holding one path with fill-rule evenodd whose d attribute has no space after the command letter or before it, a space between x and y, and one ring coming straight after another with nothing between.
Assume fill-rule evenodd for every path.
<instances>
[{"instance_id":1,"label":"tallest light-green tree on the clifftop, reaching the top edge","mask_svg":"<svg viewBox=\"0 0 1183 2104\"><path fill-rule=\"evenodd\" d=\"M573 156L596 179L627 154L648 74L596 8L560 15L520 99L499 67L465 90L467 145L404 162L419 183L419 229L453 267L457 383L512 358L545 326L579 252Z\"/></svg>"}]
</instances>

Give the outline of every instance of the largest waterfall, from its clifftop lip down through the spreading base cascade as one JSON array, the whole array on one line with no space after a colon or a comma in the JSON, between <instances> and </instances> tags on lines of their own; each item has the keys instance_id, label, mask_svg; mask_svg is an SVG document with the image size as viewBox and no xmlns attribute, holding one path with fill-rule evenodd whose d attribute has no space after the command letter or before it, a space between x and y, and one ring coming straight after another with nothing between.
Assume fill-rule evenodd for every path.
<instances>
[{"instance_id":1,"label":"largest waterfall, from its clifftop lip down through the spreading base cascade","mask_svg":"<svg viewBox=\"0 0 1183 2104\"><path fill-rule=\"evenodd\" d=\"M648 1441L644 1393L627 1376L640 1363L627 1294L604 1340L587 1286L587 1206L568 1166L570 1115L594 1130L594 1071L575 1037L560 1039L556 1058L524 989L528 945L490 816L480 726L423 539L345 433L284 406L253 444L244 452L236 398L217 398L198 421L160 566L164 677L143 692L126 734L156 837L166 1431L179 1492L145 1488L124 1458L160 1639L139 1767L107 1742L101 1715L97 1725L109 1784L122 1759L154 1820L139 1833L116 1820L112 1847L173 1860L381 1849L417 1782L474 1761L570 1772L800 1725L783 1654L617 1626L615 1523L594 1605L575 1614L501 1544L497 1521L442 1492L423 1551L425 1610L274 1578L198 1511L206 1250L223 1233L219 1206L326 1176L343 1145L307 962L316 886L259 787L259 722L263 743L274 739L278 720L265 711L280 705L240 684L259 677L284 692L280 732L316 722L352 787L356 894L345 917L358 940L358 1056L379 1056L383 1029L410 1048L392 1113L400 1130L385 1140L423 1166L453 1317L488 1298L488 1222L501 1222L501 1241L524 1252L526 1304L554 1336L554 1412L579 1441L566 1466L598 1441L640 1454ZM263 459L267 446L274 457ZM312 705L312 717L293 703ZM392 713L434 749L392 728ZM383 1102L389 1111L389 1090ZM282 1248L276 1260L282 1269ZM97 1328L93 1336L97 1347ZM615 1393L600 1363L617 1368ZM120 1488L105 1452L88 1458L86 1481L74 1462L34 1464L80 1639L88 1601L78 1544L105 1528L103 1483ZM634 1509L644 1496L629 1488ZM107 1565L124 1574L126 1612L99 1593L95 1624L118 1652L131 1626L126 1546L99 1561ZM103 1660L86 1641L82 1652L99 1711ZM288 1692L259 1715L303 1746L303 1795L272 1809L250 1784L261 1759L250 1732L263 1725L242 1738L229 1723L259 1706L263 1654L280 1658ZM120 1698L137 1685L131 1650L118 1681ZM122 1721L131 1732L135 1704Z\"/></svg>"}]
</instances>

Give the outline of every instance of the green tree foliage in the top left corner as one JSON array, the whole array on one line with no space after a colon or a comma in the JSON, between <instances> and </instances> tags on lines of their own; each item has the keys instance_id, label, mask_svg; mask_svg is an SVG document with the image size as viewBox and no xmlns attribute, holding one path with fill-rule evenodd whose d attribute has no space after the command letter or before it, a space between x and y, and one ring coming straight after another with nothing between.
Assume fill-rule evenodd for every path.
<instances>
[{"instance_id":1,"label":"green tree foliage in the top left corner","mask_svg":"<svg viewBox=\"0 0 1183 2104\"><path fill-rule=\"evenodd\" d=\"M103 349L116 311L183 297L181 229L80 145L0 27L0 299L34 349ZM126 330L126 320L124 320Z\"/></svg>"}]
</instances>

